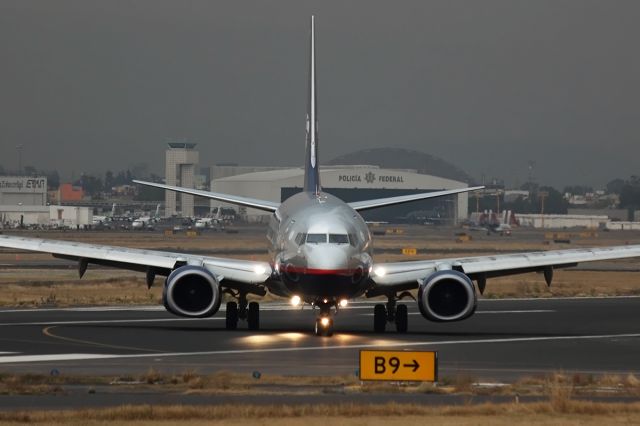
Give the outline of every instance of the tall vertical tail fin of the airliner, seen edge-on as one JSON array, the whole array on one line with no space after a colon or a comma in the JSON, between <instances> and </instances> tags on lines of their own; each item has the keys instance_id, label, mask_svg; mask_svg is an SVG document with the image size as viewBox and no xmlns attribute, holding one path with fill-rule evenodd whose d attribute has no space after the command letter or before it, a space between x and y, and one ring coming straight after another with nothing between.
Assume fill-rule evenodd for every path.
<instances>
[{"instance_id":1,"label":"tall vertical tail fin of the airliner, seen edge-on","mask_svg":"<svg viewBox=\"0 0 640 426\"><path fill-rule=\"evenodd\" d=\"M309 56L309 105L307 106L307 152L304 164L305 192L320 192L320 170L318 161L318 98L316 92L316 46L315 17L311 16Z\"/></svg>"}]
</instances>

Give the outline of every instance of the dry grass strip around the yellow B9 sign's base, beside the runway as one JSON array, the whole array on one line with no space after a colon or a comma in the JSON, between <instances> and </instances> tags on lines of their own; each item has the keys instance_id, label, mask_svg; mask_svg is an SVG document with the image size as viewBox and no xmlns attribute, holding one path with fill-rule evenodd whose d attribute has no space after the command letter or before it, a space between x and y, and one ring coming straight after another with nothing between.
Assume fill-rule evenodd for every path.
<instances>
[{"instance_id":1,"label":"dry grass strip around the yellow B9 sign's base, beside the runway","mask_svg":"<svg viewBox=\"0 0 640 426\"><path fill-rule=\"evenodd\" d=\"M563 402L574 396L640 396L640 379L635 375L591 375L550 373L523 377L500 386L484 386L479 380L461 372L443 377L437 384L413 382L360 382L355 376L282 376L218 371L199 374L195 370L166 374L150 368L138 375L125 376L48 376L42 374L0 373L0 394L47 394L64 390L67 385L106 386L155 389L189 394L308 394L325 391L346 393L446 393L467 395L535 395Z\"/></svg>"}]
</instances>

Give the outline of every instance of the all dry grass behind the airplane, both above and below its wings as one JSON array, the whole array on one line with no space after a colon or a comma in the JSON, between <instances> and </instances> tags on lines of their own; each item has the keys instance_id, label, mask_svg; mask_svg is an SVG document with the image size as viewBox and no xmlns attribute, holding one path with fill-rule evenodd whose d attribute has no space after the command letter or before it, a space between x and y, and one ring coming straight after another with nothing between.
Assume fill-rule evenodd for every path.
<instances>
[{"instance_id":1,"label":"all dry grass behind the airplane, both above and below its wings","mask_svg":"<svg viewBox=\"0 0 640 426\"><path fill-rule=\"evenodd\" d=\"M518 230L513 237L483 236L473 234L469 243L453 241L453 234L459 229L429 229L419 226L405 226L401 235L377 237L375 246L383 252L376 256L378 262L433 259L443 257L463 257L482 253L509 252L518 250L543 250L549 248L571 248L586 246L618 245L639 239L634 233L602 233L597 239L577 240L571 245L549 247L543 243L544 233ZM537 232L537 233L536 233ZM202 254L231 256L246 259L266 260L266 241L262 230L243 231L238 234L206 233L196 238L184 234L164 236L156 233L140 232L24 232L30 237L66 239L95 244L168 249L176 251L196 250ZM521 237L518 237L521 234ZM141 238L141 235L144 238ZM418 256L402 256L402 247L418 247ZM255 254L234 251L255 249ZM28 253L0 249L0 261L20 264L29 260L50 259L48 254ZM621 261L624 262L635 262ZM143 274L115 269L92 269L85 277L78 279L75 270L47 269L2 269L0 306L71 306L71 305L120 305L159 304L162 292L162 277L156 279L149 291ZM496 278L489 280L484 297L563 297L563 296L616 296L639 295L640 278L637 273L611 271L557 271L551 288L538 274ZM278 300L269 297L267 300Z\"/></svg>"}]
</instances>

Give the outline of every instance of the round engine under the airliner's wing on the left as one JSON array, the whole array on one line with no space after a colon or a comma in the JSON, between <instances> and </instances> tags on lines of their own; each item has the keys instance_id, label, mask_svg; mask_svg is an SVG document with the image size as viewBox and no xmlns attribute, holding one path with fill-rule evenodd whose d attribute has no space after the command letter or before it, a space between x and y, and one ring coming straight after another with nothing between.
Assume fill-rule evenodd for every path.
<instances>
[{"instance_id":1,"label":"round engine under the airliner's wing on the left","mask_svg":"<svg viewBox=\"0 0 640 426\"><path fill-rule=\"evenodd\" d=\"M162 292L165 309L183 317L215 315L221 300L218 280L200 266L185 265L171 272Z\"/></svg>"}]
</instances>

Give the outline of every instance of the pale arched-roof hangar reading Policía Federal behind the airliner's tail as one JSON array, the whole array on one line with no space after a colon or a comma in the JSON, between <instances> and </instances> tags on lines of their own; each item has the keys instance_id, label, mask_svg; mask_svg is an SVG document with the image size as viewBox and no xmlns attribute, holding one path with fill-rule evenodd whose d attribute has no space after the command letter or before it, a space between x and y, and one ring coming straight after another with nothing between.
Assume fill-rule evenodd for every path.
<instances>
[{"instance_id":1,"label":"pale arched-roof hangar reading Polic\u00eda Federal behind the airliner's tail","mask_svg":"<svg viewBox=\"0 0 640 426\"><path fill-rule=\"evenodd\" d=\"M233 170L228 170L233 173ZM216 174L212 173L212 176ZM211 190L226 194L281 202L302 191L304 169L278 168L216 178ZM465 182L418 173L410 169L385 169L379 166L326 166L320 170L323 190L347 201L393 197L443 189L464 188ZM457 194L433 200L416 201L397 206L383 207L363 212L371 221L396 222L399 220L424 221L437 215L457 222L467 216L468 195ZM212 201L211 207L226 204ZM266 221L269 214L256 209L246 209L249 221ZM422 218L422 219L421 219Z\"/></svg>"}]
</instances>

